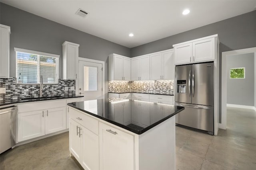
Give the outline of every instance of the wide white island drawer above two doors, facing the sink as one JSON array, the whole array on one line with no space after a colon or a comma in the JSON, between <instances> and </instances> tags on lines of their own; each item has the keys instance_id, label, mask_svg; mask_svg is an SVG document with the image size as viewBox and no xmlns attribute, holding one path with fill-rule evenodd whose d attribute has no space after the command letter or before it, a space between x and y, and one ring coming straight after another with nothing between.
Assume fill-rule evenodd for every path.
<instances>
[{"instance_id":1,"label":"wide white island drawer above two doors, facing the sink","mask_svg":"<svg viewBox=\"0 0 256 170\"><path fill-rule=\"evenodd\" d=\"M72 107L69 107L69 116L70 119L73 119L74 121L80 123L82 126L86 127L87 129L98 135L99 122L97 119L86 115L86 113L82 113L76 109L73 109Z\"/></svg>"}]
</instances>

